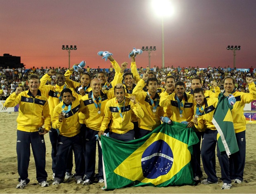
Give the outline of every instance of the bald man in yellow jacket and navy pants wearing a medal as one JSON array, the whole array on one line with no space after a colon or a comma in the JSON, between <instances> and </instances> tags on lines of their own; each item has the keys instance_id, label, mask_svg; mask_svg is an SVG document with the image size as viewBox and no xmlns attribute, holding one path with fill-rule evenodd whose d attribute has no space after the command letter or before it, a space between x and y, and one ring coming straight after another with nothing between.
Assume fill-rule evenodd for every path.
<instances>
[{"instance_id":1,"label":"bald man in yellow jacket and navy pants wearing a medal","mask_svg":"<svg viewBox=\"0 0 256 194\"><path fill-rule=\"evenodd\" d=\"M114 97L114 92L104 90L102 92L102 84L98 78L92 79L92 91L81 98L81 108L85 112L81 131L83 133L83 149L85 157L85 181L84 185L92 184L95 174L95 157L96 157L96 137L100 130L101 123L104 118L104 108L107 101ZM81 118L80 118L81 119ZM102 149L98 144L98 174L96 175L98 182L104 182L102 170Z\"/></svg>"}]
</instances>

